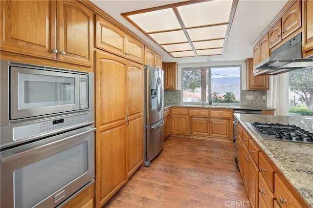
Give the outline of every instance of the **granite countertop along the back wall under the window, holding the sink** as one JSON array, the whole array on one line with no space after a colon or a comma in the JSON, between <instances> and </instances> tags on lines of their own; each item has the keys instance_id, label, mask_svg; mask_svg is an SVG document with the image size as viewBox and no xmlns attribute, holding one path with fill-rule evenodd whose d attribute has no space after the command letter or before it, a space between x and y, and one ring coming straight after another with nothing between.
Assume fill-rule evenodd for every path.
<instances>
[{"instance_id":1,"label":"granite countertop along the back wall under the window, holding the sink","mask_svg":"<svg viewBox=\"0 0 313 208\"><path fill-rule=\"evenodd\" d=\"M267 106L249 106L249 105L201 105L201 104L164 104L164 109L169 107L203 107L203 108L226 108L241 110L276 110Z\"/></svg>"}]
</instances>

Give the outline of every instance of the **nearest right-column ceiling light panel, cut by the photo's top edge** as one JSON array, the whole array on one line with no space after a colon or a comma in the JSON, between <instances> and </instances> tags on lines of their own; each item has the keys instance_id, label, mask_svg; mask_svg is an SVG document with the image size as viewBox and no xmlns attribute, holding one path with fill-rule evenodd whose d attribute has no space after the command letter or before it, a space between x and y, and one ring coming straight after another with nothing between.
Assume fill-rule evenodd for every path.
<instances>
[{"instance_id":1,"label":"nearest right-column ceiling light panel, cut by the photo's top edge","mask_svg":"<svg viewBox=\"0 0 313 208\"><path fill-rule=\"evenodd\" d=\"M232 0L211 0L177 7L186 28L227 22Z\"/></svg>"}]
</instances>

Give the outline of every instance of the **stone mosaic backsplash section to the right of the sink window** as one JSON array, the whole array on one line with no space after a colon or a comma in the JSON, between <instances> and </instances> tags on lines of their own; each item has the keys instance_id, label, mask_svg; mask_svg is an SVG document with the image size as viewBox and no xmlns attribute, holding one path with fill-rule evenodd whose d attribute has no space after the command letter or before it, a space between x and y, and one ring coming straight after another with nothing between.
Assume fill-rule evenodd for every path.
<instances>
[{"instance_id":1,"label":"stone mosaic backsplash section to the right of the sink window","mask_svg":"<svg viewBox=\"0 0 313 208\"><path fill-rule=\"evenodd\" d=\"M242 90L241 104L249 106L267 106L266 90Z\"/></svg>"}]
</instances>

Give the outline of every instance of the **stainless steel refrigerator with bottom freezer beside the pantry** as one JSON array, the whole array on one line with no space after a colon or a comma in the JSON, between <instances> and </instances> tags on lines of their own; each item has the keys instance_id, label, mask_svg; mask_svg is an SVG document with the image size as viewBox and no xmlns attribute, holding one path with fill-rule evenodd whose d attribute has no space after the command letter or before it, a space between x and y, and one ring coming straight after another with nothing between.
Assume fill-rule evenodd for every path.
<instances>
[{"instance_id":1,"label":"stainless steel refrigerator with bottom freezer beside the pantry","mask_svg":"<svg viewBox=\"0 0 313 208\"><path fill-rule=\"evenodd\" d=\"M144 165L160 153L164 146L164 72L162 69L145 66L145 136Z\"/></svg>"}]
</instances>

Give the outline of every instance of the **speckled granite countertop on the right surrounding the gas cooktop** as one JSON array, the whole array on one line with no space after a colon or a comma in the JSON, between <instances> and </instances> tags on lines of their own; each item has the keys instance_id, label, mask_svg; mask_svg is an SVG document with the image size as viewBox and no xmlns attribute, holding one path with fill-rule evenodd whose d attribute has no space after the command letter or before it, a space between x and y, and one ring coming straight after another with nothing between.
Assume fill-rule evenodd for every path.
<instances>
[{"instance_id":1,"label":"speckled granite countertop on the right surrounding the gas cooktop","mask_svg":"<svg viewBox=\"0 0 313 208\"><path fill-rule=\"evenodd\" d=\"M262 140L246 122L297 125L313 132L313 116L234 114L294 189L313 208L313 144Z\"/></svg>"}]
</instances>

